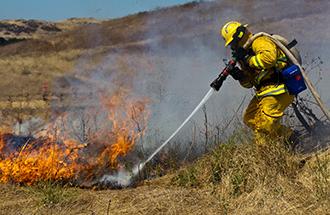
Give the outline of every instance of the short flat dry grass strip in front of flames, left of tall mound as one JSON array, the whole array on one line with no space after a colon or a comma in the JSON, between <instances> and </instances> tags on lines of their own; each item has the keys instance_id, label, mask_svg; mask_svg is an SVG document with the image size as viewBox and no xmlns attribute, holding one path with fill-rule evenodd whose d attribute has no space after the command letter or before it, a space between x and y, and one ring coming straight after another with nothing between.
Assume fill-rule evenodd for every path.
<instances>
[{"instance_id":1,"label":"short flat dry grass strip in front of flames, left of tall mound","mask_svg":"<svg viewBox=\"0 0 330 215\"><path fill-rule=\"evenodd\" d=\"M221 210L210 190L163 185L103 191L76 188L40 191L35 187L6 185L1 185L1 189L4 195L0 197L0 214L218 214ZM49 201L53 199L60 201Z\"/></svg>"}]
</instances>

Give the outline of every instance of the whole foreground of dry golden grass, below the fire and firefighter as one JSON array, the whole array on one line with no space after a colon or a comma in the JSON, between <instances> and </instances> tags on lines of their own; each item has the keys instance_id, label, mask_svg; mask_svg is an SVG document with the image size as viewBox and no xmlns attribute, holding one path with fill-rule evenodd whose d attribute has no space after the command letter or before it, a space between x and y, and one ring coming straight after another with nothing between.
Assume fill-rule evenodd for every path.
<instances>
[{"instance_id":1,"label":"whole foreground of dry golden grass, below the fire and firefighter","mask_svg":"<svg viewBox=\"0 0 330 215\"><path fill-rule=\"evenodd\" d=\"M240 140L132 188L2 184L0 214L330 213L329 151L306 157L277 143L259 148Z\"/></svg>"}]
</instances>

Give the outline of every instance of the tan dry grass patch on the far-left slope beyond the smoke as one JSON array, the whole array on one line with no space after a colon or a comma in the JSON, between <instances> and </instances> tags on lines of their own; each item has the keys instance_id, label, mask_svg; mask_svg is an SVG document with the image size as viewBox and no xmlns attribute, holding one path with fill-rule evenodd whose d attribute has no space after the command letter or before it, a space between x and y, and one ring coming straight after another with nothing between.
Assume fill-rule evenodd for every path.
<instances>
[{"instance_id":1,"label":"tan dry grass patch on the far-left slope beyond the smoke","mask_svg":"<svg viewBox=\"0 0 330 215\"><path fill-rule=\"evenodd\" d=\"M48 54L42 56L10 56L0 59L0 96L40 94L42 86L73 70L81 51Z\"/></svg>"}]
</instances>

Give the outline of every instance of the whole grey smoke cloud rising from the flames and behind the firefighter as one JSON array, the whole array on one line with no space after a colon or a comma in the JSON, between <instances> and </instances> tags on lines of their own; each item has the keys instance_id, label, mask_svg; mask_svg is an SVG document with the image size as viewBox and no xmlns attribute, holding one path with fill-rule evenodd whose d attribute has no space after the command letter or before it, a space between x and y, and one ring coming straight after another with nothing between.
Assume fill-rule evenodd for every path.
<instances>
[{"instance_id":1,"label":"whole grey smoke cloud rising from the flames and behind the firefighter","mask_svg":"<svg viewBox=\"0 0 330 215\"><path fill-rule=\"evenodd\" d=\"M69 137L88 144L86 135L97 133L100 128L111 131L114 126L113 123L109 124L104 97L117 96L121 99L122 106L118 106L119 112L116 113L119 118L130 116L125 108L128 104L143 103L149 118L146 121L145 118L139 120L138 127L143 135L137 141L136 153L125 158L132 160L133 169L129 170L123 165L125 159L119 159L122 164L120 169L115 173L106 171L96 179L97 183L105 186L128 186L139 172L139 162L186 119L223 68L223 59L231 57L219 36L219 29L225 22L238 20L249 23L253 32L276 33L289 40L296 38L304 61L310 62L320 57L324 62L323 71L327 71L330 68L328 8L327 1L312 4L298 0L224 0L192 3L149 13L144 23L147 31L144 31L143 36L139 35L142 40L138 41L144 46L138 51L118 48L105 55L104 50L86 51L77 62L75 71L55 85L54 91L58 94L69 92L69 98L54 101L54 113L56 116L65 113L63 117L69 124L62 125L62 129ZM102 44L101 29L94 30L90 42ZM107 36L111 38L111 35ZM327 84L330 76L323 71L310 75L314 81L318 80L318 76L323 78L318 88L330 105L327 93L330 90ZM68 84L64 85L63 82ZM205 141L206 125L212 129L225 127L230 133L234 128L227 125L228 121L232 121L233 117L240 119L242 109L238 107L242 102L246 106L252 95L252 90L243 89L228 78L220 92L208 101L206 111L199 111L172 141L180 143L180 147L186 151L186 145L192 138L196 139L197 148L204 147L201 143ZM61 124L61 117L54 117L57 124ZM193 127L197 128L197 132L192 131ZM221 132L218 138L225 139L225 134ZM107 140L108 136L100 138ZM143 156L138 153L141 151Z\"/></svg>"}]
</instances>

